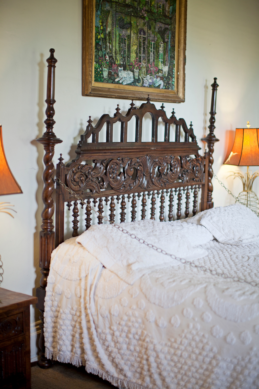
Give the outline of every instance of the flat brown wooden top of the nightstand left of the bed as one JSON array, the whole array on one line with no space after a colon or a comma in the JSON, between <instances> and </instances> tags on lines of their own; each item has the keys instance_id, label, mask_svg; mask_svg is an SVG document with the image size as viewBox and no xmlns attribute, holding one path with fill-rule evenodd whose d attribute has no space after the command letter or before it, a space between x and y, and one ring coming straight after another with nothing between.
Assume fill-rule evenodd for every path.
<instances>
[{"instance_id":1,"label":"flat brown wooden top of the nightstand left of the bed","mask_svg":"<svg viewBox=\"0 0 259 389\"><path fill-rule=\"evenodd\" d=\"M6 312L7 309L16 309L30 304L37 303L37 297L29 296L28 294L18 293L3 289L0 287L0 314Z\"/></svg>"}]
</instances>

